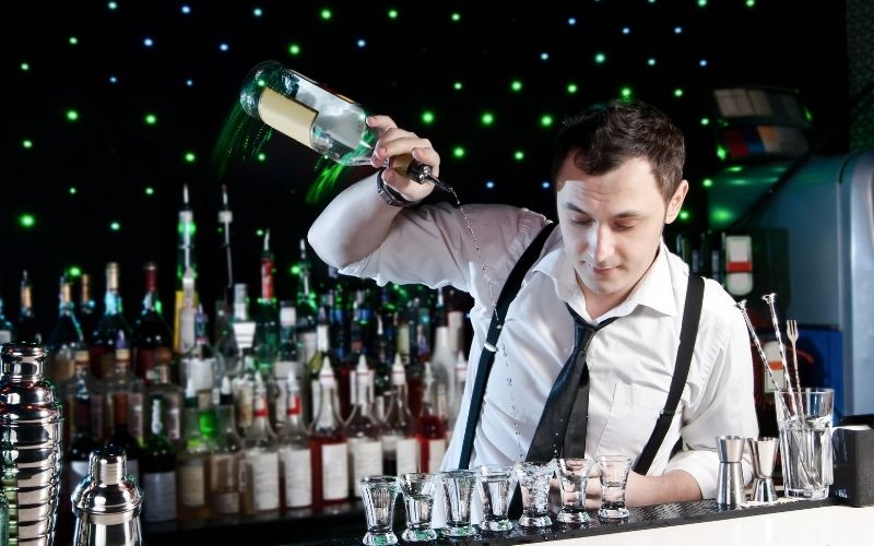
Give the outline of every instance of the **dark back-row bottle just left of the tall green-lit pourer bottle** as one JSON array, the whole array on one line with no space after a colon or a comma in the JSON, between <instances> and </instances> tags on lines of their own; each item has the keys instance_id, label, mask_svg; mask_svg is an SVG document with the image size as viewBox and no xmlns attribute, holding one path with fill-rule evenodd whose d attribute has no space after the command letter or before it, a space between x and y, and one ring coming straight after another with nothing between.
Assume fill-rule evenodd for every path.
<instances>
[{"instance_id":1,"label":"dark back-row bottle just left of the tall green-lit pourer bottle","mask_svg":"<svg viewBox=\"0 0 874 546\"><path fill-rule=\"evenodd\" d=\"M157 297L157 265L146 262L145 296L143 308L133 327L133 361L137 376L152 383L157 379L155 370L155 352L169 349L173 345L173 333L161 314L161 300Z\"/></svg>"}]
</instances>

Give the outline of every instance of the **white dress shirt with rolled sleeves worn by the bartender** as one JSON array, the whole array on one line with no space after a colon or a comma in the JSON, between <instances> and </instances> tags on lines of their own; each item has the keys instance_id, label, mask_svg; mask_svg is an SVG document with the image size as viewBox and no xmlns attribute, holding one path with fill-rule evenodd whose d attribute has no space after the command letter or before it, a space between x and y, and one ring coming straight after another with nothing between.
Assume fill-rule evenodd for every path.
<instances>
[{"instance_id":1,"label":"white dress shirt with rolled sleeves worn by the bartender","mask_svg":"<svg viewBox=\"0 0 874 546\"><path fill-rule=\"evenodd\" d=\"M468 381L444 470L459 465L471 391L494 302L512 266L548 222L540 214L506 205L465 205L464 212L479 252L461 211L440 203L402 211L375 252L341 270L371 277L379 285L452 285L473 297ZM524 460L553 382L574 348L574 321L565 304L592 323L618 317L594 335L587 354L586 455L639 456L668 397L687 281L687 265L662 242L656 261L626 300L601 317L589 317L562 230L554 229L507 311L470 467ZM686 471L697 480L704 498L713 498L719 471L716 437L758 435L753 372L743 318L728 293L707 280L686 387L648 474ZM685 449L671 456L681 437ZM747 480L749 471L745 465ZM436 495L435 526L442 524L439 498ZM479 509L474 514L479 521Z\"/></svg>"}]
</instances>

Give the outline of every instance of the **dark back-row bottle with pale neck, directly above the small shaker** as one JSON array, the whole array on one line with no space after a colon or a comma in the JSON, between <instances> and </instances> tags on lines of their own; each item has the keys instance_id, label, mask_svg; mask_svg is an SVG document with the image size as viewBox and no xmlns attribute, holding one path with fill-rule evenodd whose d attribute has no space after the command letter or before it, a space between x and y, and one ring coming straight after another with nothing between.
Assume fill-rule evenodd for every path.
<instances>
[{"instance_id":1,"label":"dark back-row bottle with pale neck, directly above the small shaker","mask_svg":"<svg viewBox=\"0 0 874 546\"><path fill-rule=\"evenodd\" d=\"M132 332L125 320L119 293L118 263L106 264L106 295L104 296L104 313L95 327L91 354L91 371L95 377L109 377L115 367L116 348L128 347Z\"/></svg>"}]
</instances>

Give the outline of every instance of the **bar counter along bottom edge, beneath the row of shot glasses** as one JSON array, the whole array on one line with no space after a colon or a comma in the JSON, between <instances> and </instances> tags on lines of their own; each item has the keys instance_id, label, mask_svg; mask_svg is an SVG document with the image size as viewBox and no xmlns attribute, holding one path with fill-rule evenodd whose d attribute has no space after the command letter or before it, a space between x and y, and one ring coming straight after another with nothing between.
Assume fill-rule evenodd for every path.
<instances>
[{"instance_id":1,"label":"bar counter along bottom edge, beneath the row of shot glasses","mask_svg":"<svg viewBox=\"0 0 874 546\"><path fill-rule=\"evenodd\" d=\"M565 541L566 544L652 545L707 544L707 546L748 546L791 544L792 546L871 544L864 539L874 518L874 507L853 508L834 499L782 501L768 506L719 508L716 501L659 505L630 508L622 523L601 523L590 511L586 527L568 529L555 524L540 532L518 525L504 534L477 534L468 538L440 538L426 544L483 544L509 546ZM400 537L404 515L395 505L394 531ZM864 524L864 526L863 526ZM361 502L339 505L321 511L265 513L206 522L173 522L145 525L149 544L191 545L246 542L251 546L323 544L357 546L366 532ZM869 536L869 538L871 538ZM405 544L400 541L401 544ZM411 543L412 544L412 543Z\"/></svg>"}]
</instances>

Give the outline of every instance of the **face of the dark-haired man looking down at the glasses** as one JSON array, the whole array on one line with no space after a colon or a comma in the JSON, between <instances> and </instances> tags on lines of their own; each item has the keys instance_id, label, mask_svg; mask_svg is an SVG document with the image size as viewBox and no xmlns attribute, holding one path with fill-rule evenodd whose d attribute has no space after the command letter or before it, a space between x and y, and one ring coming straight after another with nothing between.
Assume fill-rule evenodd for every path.
<instances>
[{"instance_id":1,"label":"face of the dark-haired man looking down at the glasses","mask_svg":"<svg viewBox=\"0 0 874 546\"><path fill-rule=\"evenodd\" d=\"M688 183L684 180L665 205L647 159L631 158L590 176L574 165L574 156L558 170L558 222L594 318L621 304L643 277L664 224L680 213Z\"/></svg>"}]
</instances>

